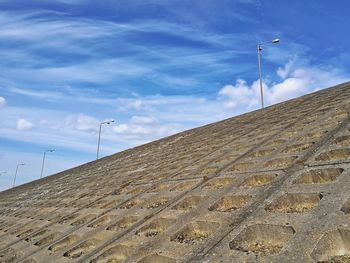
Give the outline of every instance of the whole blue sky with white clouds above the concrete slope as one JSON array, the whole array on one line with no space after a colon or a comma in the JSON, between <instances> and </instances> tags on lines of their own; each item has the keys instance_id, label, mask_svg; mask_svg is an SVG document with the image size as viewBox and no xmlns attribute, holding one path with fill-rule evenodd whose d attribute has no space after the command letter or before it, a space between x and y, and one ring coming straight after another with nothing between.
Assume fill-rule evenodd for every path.
<instances>
[{"instance_id":1,"label":"whole blue sky with white clouds above the concrete slope","mask_svg":"<svg viewBox=\"0 0 350 263\"><path fill-rule=\"evenodd\" d=\"M0 190L350 79L348 1L0 0Z\"/></svg>"}]
</instances>

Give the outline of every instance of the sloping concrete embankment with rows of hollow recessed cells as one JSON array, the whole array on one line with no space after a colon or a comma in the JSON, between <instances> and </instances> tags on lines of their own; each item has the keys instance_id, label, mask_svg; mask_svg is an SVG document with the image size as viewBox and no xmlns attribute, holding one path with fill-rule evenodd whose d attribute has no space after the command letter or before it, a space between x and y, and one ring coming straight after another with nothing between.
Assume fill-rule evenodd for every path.
<instances>
[{"instance_id":1,"label":"sloping concrete embankment with rows of hollow recessed cells","mask_svg":"<svg viewBox=\"0 0 350 263\"><path fill-rule=\"evenodd\" d=\"M350 262L350 83L0 193L0 262Z\"/></svg>"}]
</instances>

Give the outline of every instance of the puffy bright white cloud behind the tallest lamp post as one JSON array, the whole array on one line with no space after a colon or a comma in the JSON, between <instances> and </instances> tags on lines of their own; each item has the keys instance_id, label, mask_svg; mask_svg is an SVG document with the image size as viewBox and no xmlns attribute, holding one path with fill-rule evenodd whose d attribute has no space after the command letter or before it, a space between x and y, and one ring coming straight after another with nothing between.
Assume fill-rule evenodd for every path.
<instances>
[{"instance_id":1,"label":"puffy bright white cloud behind the tallest lamp post","mask_svg":"<svg viewBox=\"0 0 350 263\"><path fill-rule=\"evenodd\" d=\"M286 101L349 80L346 74L335 68L297 67L294 60L279 68L277 74L282 78L281 82L263 81L265 105ZM248 85L246 81L239 79L235 85L224 86L218 96L227 108L243 108L244 111L249 111L260 105L259 81Z\"/></svg>"}]
</instances>

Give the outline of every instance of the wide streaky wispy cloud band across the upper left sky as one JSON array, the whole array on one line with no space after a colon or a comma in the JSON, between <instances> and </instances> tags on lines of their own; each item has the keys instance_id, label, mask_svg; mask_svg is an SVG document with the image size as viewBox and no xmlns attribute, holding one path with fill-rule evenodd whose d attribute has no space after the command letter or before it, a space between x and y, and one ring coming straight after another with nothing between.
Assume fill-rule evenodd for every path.
<instances>
[{"instance_id":1,"label":"wide streaky wispy cloud band across the upper left sky","mask_svg":"<svg viewBox=\"0 0 350 263\"><path fill-rule=\"evenodd\" d=\"M252 40L249 34L217 34L159 20L77 20L45 11L0 12L0 25L0 39L9 43L0 56L14 66L1 70L7 78L23 83L117 81L124 85L129 78L142 78L150 85L193 88L206 81L203 68L218 73L232 70L229 60L247 52L232 45ZM139 34L144 34L143 39L133 38ZM162 34L164 42L145 41L152 34ZM189 65L192 72L182 73Z\"/></svg>"}]
</instances>

